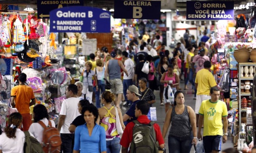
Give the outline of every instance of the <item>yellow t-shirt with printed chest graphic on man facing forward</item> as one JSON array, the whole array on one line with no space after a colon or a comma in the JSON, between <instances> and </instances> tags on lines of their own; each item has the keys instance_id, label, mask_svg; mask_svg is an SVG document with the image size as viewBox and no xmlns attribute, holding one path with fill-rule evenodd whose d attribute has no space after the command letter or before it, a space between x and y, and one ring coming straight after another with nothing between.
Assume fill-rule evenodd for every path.
<instances>
[{"instance_id":1,"label":"yellow t-shirt with printed chest graphic on man facing forward","mask_svg":"<svg viewBox=\"0 0 256 153\"><path fill-rule=\"evenodd\" d=\"M203 136L216 136L223 133L222 117L228 116L225 102L218 100L213 103L210 100L202 101L199 114L203 115Z\"/></svg>"}]
</instances>

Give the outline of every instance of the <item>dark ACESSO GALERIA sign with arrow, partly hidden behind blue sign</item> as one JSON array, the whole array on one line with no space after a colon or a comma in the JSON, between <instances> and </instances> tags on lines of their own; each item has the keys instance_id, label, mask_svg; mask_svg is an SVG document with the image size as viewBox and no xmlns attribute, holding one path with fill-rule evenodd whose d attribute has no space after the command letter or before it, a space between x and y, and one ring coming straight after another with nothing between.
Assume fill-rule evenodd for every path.
<instances>
[{"instance_id":1,"label":"dark ACESSO GALERIA sign with arrow, partly hidden behind blue sign","mask_svg":"<svg viewBox=\"0 0 256 153\"><path fill-rule=\"evenodd\" d=\"M38 19L49 19L50 11L69 7L69 6L84 6L83 0L37 0Z\"/></svg>"}]
</instances>

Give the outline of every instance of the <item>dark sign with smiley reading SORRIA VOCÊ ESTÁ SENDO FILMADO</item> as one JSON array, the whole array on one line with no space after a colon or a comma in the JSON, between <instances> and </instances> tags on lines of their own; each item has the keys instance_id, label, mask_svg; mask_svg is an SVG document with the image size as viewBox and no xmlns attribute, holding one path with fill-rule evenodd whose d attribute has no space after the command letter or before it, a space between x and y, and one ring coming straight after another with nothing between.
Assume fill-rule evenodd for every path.
<instances>
[{"instance_id":1,"label":"dark sign with smiley reading SORRIA VOC\u00ca EST\u00c1 SENDO FILMADO","mask_svg":"<svg viewBox=\"0 0 256 153\"><path fill-rule=\"evenodd\" d=\"M187 1L187 20L233 20L234 1Z\"/></svg>"}]
</instances>

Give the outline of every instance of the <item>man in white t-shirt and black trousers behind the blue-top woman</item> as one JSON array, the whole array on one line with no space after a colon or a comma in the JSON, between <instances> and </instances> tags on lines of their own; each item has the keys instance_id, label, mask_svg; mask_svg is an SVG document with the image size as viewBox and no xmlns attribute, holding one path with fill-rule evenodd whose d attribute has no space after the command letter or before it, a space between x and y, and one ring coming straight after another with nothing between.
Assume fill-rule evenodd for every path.
<instances>
[{"instance_id":1,"label":"man in white t-shirt and black trousers behind the blue-top woman","mask_svg":"<svg viewBox=\"0 0 256 153\"><path fill-rule=\"evenodd\" d=\"M72 121L79 116L77 110L77 104L79 98L77 98L77 86L69 84L66 87L66 100L62 102L60 117L58 121L58 130L61 134L61 151L64 153L72 153L74 147L74 133L70 133L68 128Z\"/></svg>"}]
</instances>

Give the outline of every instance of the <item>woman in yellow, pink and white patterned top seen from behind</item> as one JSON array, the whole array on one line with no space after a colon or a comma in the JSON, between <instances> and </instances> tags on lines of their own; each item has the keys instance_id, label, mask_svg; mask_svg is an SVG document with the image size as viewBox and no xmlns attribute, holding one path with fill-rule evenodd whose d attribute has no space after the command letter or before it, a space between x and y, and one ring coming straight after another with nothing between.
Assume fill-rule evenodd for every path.
<instances>
[{"instance_id":1,"label":"woman in yellow, pink and white patterned top seen from behind","mask_svg":"<svg viewBox=\"0 0 256 153\"><path fill-rule=\"evenodd\" d=\"M125 129L123 124L122 112L119 108L112 106L111 102L115 101L115 95L110 91L104 91L100 97L102 108L99 108L100 125L103 126L106 133L107 153L119 153L121 150L120 136L116 128L116 111L118 111L119 121L122 129Z\"/></svg>"}]
</instances>

